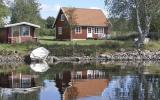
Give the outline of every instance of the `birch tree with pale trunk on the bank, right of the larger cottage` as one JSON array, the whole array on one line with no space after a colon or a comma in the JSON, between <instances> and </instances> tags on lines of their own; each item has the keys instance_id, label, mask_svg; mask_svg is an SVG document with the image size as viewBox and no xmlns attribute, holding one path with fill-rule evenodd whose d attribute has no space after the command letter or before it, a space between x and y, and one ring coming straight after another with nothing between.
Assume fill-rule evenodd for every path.
<instances>
[{"instance_id":1,"label":"birch tree with pale trunk on the bank, right of the larger cottage","mask_svg":"<svg viewBox=\"0 0 160 100\"><path fill-rule=\"evenodd\" d=\"M105 0L105 5L114 17L132 19L132 13L136 15L139 37L137 46L143 44L149 34L152 19L160 13L159 0Z\"/></svg>"}]
</instances>

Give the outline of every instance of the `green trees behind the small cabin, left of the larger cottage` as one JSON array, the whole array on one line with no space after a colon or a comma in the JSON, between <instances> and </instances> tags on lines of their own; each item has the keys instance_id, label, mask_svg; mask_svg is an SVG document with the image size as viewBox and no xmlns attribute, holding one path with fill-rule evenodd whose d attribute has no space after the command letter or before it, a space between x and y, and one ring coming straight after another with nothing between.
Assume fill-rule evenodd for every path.
<instances>
[{"instance_id":1,"label":"green trees behind the small cabin, left of the larger cottage","mask_svg":"<svg viewBox=\"0 0 160 100\"><path fill-rule=\"evenodd\" d=\"M41 4L38 0L0 0L0 25L9 23L30 22L41 26L39 35L54 35L53 23L55 18L49 16L43 19L40 15Z\"/></svg>"}]
</instances>

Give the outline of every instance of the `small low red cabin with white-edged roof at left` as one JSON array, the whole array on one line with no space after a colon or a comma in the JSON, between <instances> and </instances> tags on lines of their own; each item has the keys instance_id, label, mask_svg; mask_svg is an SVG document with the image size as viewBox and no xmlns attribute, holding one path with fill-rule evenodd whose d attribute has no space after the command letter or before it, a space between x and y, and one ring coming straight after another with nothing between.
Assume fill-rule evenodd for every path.
<instances>
[{"instance_id":1,"label":"small low red cabin with white-edged roof at left","mask_svg":"<svg viewBox=\"0 0 160 100\"><path fill-rule=\"evenodd\" d=\"M20 22L15 24L8 24L0 28L0 42L1 43L24 43L28 41L37 41L35 29L40 26Z\"/></svg>"}]
</instances>

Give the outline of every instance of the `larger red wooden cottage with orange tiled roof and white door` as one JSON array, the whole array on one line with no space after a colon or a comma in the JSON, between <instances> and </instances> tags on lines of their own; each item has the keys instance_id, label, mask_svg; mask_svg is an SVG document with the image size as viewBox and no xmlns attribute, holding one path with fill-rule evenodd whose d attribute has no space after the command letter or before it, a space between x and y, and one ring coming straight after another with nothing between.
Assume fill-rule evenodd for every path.
<instances>
[{"instance_id":1,"label":"larger red wooden cottage with orange tiled roof and white door","mask_svg":"<svg viewBox=\"0 0 160 100\"><path fill-rule=\"evenodd\" d=\"M110 22L100 9L62 7L54 27L59 40L102 39L109 34Z\"/></svg>"}]
</instances>

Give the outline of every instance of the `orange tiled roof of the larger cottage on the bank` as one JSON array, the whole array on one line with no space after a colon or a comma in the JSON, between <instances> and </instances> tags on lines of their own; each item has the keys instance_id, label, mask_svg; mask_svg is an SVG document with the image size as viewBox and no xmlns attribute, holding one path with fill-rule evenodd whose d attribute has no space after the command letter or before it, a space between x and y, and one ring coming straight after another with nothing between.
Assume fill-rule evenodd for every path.
<instances>
[{"instance_id":1,"label":"orange tiled roof of the larger cottage on the bank","mask_svg":"<svg viewBox=\"0 0 160 100\"><path fill-rule=\"evenodd\" d=\"M88 9L88 8L68 8L62 7L60 10L63 11L67 18L67 12L69 9L74 9L73 15L76 16L75 22L80 26L107 26L109 24L108 19L104 15L101 9ZM68 18L67 18L68 19Z\"/></svg>"}]
</instances>

